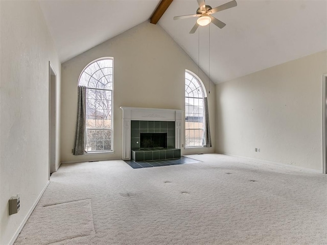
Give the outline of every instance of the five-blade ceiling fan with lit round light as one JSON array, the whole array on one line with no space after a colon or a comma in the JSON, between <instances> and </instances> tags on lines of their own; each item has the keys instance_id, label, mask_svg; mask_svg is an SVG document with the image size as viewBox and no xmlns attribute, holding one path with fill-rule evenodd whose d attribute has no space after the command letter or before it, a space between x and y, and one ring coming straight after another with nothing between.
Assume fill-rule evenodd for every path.
<instances>
[{"instance_id":1,"label":"five-blade ceiling fan with lit round light","mask_svg":"<svg viewBox=\"0 0 327 245\"><path fill-rule=\"evenodd\" d=\"M204 27L207 24L209 24L210 22L213 22L219 28L223 28L224 26L226 26L226 24L224 22L220 21L219 19L216 19L214 16L211 16L211 14L237 6L237 3L235 0L228 2L226 4L223 4L223 5L220 5L214 9L209 5L205 5L204 0L197 0L197 2L199 4L199 8L197 9L196 14L182 15L182 16L174 17L175 20L190 18L190 17L199 17L196 20L194 27L190 31L190 34L195 33L195 31L198 29L199 26Z\"/></svg>"}]
</instances>

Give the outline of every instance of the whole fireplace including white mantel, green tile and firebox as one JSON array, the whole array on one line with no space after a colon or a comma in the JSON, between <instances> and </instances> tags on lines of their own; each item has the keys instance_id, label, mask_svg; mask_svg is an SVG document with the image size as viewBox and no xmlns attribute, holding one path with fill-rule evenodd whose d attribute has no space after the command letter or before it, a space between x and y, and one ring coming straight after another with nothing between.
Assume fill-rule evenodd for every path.
<instances>
[{"instance_id":1,"label":"whole fireplace including white mantel, green tile and firebox","mask_svg":"<svg viewBox=\"0 0 327 245\"><path fill-rule=\"evenodd\" d=\"M121 107L121 109L123 110L123 160L157 160L180 157L183 111L135 107ZM156 148L156 141L150 144L154 147L141 143L141 134L145 134L144 136L149 139L151 134L153 137L153 133L166 135L164 146Z\"/></svg>"}]
</instances>

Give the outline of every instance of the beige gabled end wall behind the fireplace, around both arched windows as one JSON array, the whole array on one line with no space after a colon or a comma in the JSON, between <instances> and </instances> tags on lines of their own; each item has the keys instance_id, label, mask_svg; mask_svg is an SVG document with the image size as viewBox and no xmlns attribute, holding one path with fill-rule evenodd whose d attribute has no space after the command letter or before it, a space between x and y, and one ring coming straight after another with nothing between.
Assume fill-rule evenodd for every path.
<instances>
[{"instance_id":1,"label":"beige gabled end wall behind the fireplace, around both arched windows","mask_svg":"<svg viewBox=\"0 0 327 245\"><path fill-rule=\"evenodd\" d=\"M114 58L113 154L73 156L78 78L84 67L100 57ZM121 106L184 110L185 69L198 73L197 65L158 25L148 21L62 64L61 162L121 159ZM198 75L198 74L197 74ZM208 87L208 78L199 77ZM208 95L212 137L215 135L215 86ZM184 143L184 142L183 142ZM214 152L213 148L182 150L182 154Z\"/></svg>"}]
</instances>

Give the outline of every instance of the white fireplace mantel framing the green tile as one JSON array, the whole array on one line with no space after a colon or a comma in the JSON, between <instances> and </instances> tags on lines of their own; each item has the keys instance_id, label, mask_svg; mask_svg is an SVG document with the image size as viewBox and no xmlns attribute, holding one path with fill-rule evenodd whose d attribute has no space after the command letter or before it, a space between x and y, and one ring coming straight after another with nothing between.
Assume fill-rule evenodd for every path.
<instances>
[{"instance_id":1,"label":"white fireplace mantel framing the green tile","mask_svg":"<svg viewBox=\"0 0 327 245\"><path fill-rule=\"evenodd\" d=\"M131 159L131 120L175 121L175 148L181 145L181 110L121 107L123 110L123 160Z\"/></svg>"}]
</instances>

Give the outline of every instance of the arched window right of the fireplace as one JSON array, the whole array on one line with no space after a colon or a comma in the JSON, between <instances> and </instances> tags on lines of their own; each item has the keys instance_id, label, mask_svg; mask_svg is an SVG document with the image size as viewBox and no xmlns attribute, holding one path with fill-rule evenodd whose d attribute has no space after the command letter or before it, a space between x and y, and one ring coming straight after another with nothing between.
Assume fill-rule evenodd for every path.
<instances>
[{"instance_id":1,"label":"arched window right of the fireplace","mask_svg":"<svg viewBox=\"0 0 327 245\"><path fill-rule=\"evenodd\" d=\"M203 98L205 90L200 78L185 70L185 147L202 146Z\"/></svg>"}]
</instances>

